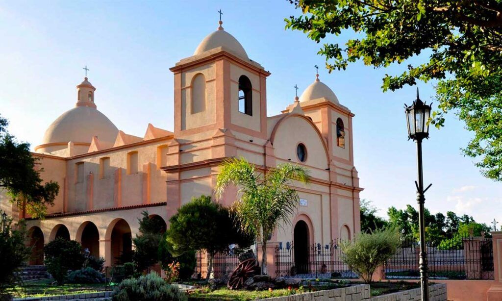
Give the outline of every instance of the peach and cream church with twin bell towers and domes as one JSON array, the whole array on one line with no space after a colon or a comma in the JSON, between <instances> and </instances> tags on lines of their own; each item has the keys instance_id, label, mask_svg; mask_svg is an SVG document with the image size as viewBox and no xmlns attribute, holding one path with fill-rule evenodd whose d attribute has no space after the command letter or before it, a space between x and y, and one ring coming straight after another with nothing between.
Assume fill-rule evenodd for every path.
<instances>
[{"instance_id":1,"label":"peach and cream church with twin bell towers and domes","mask_svg":"<svg viewBox=\"0 0 502 301\"><path fill-rule=\"evenodd\" d=\"M221 21L170 70L174 129L149 123L143 137L124 133L98 110L99 93L87 77L77 85L75 106L49 125L33 153L41 159L43 180L60 186L55 205L39 220L1 197L9 215L27 219L34 244L30 264L43 264L44 243L57 237L79 241L104 257L105 265L117 264L133 248L143 211L169 227L169 218L192 197L213 195L220 164L231 157L243 157L264 173L282 163L310 170L309 184L295 184L298 210L273 235L271 248L325 245L359 232L354 114L319 75L282 112L269 116L271 73L248 57ZM231 205L235 192L219 202Z\"/></svg>"}]
</instances>

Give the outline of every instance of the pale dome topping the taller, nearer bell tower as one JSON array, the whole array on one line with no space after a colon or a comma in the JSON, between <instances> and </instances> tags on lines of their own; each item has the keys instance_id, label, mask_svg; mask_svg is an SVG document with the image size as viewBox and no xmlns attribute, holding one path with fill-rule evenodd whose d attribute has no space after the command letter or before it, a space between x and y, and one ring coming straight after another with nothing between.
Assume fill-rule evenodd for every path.
<instances>
[{"instance_id":1,"label":"pale dome topping the taller, nearer bell tower","mask_svg":"<svg viewBox=\"0 0 502 301\"><path fill-rule=\"evenodd\" d=\"M198 55L218 47L224 47L230 53L240 58L249 59L246 51L244 50L244 48L242 48L242 45L240 45L239 41L237 41L237 39L235 39L226 31L224 31L221 26L217 31L209 34L204 38L204 40L202 40L202 42L200 42L193 55Z\"/></svg>"}]
</instances>

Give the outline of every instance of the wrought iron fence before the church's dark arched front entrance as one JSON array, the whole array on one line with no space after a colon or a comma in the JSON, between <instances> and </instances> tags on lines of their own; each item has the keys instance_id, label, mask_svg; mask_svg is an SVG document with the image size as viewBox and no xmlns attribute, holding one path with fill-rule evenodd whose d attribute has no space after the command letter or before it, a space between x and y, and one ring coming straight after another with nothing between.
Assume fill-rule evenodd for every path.
<instances>
[{"instance_id":1,"label":"wrought iron fence before the church's dark arched front entrance","mask_svg":"<svg viewBox=\"0 0 502 301\"><path fill-rule=\"evenodd\" d=\"M299 277L357 278L357 275L342 260L340 240L329 244L320 243L295 249L287 243L276 247L276 275Z\"/></svg>"}]
</instances>

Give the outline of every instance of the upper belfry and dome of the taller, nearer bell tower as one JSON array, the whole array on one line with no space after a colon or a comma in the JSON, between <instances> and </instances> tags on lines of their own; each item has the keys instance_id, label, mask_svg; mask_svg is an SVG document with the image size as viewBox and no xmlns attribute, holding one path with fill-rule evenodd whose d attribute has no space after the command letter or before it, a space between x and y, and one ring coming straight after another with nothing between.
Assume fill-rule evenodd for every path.
<instances>
[{"instance_id":1,"label":"upper belfry and dome of the taller, nearer bell tower","mask_svg":"<svg viewBox=\"0 0 502 301\"><path fill-rule=\"evenodd\" d=\"M220 130L246 139L266 139L266 78L270 73L248 58L221 21L193 56L170 70L174 73L176 137L212 137Z\"/></svg>"}]
</instances>

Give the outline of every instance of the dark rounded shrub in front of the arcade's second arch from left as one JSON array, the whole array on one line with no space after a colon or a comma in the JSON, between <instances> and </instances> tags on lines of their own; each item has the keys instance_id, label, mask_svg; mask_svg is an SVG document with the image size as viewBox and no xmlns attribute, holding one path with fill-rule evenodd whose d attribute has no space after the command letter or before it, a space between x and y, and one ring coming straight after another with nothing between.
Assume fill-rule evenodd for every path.
<instances>
[{"instance_id":1,"label":"dark rounded shrub in front of the arcade's second arch from left","mask_svg":"<svg viewBox=\"0 0 502 301\"><path fill-rule=\"evenodd\" d=\"M68 270L78 270L84 263L84 250L75 240L56 238L44 247L47 271L63 284Z\"/></svg>"}]
</instances>

